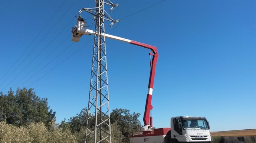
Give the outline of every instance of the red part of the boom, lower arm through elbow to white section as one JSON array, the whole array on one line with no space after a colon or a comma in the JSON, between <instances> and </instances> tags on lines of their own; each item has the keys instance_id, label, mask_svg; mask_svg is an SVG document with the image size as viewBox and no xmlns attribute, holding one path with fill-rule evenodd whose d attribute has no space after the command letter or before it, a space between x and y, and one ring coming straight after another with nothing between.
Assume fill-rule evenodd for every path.
<instances>
[{"instance_id":1,"label":"red part of the boom, lower arm through elbow to white section","mask_svg":"<svg viewBox=\"0 0 256 143\"><path fill-rule=\"evenodd\" d=\"M131 40L131 44L141 46L141 47L144 47L147 49L151 49L153 52L153 53L152 52L150 53L150 55L152 55L153 58L152 58L152 61L150 62L150 64L151 64L150 79L148 82L148 94L147 94L145 112L144 112L144 117L143 117L144 125L149 125L148 122L151 119L150 126L152 126L152 117L150 117L150 110L153 108L153 106L151 105L151 100L152 100L152 90L153 90L154 79L155 79L155 68L156 68L157 59L158 59L157 47L151 46L148 44L144 44L144 43L140 43L140 42L136 42L136 41L132 41L132 40ZM150 88L152 88L152 90Z\"/></svg>"}]
</instances>

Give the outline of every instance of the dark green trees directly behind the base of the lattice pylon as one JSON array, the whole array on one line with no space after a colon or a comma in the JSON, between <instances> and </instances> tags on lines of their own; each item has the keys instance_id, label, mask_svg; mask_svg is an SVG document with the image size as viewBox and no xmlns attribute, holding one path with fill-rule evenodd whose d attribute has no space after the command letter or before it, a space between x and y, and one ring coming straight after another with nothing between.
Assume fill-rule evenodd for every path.
<instances>
[{"instance_id":1,"label":"dark green trees directly behind the base of the lattice pylon","mask_svg":"<svg viewBox=\"0 0 256 143\"><path fill-rule=\"evenodd\" d=\"M110 114L111 136L113 143L129 143L129 135L131 132L138 132L141 129L139 121L140 113L131 114L128 109L114 109ZM70 129L77 137L78 143L85 142L87 108L83 108L79 114L69 118L68 122L62 121L59 128ZM90 118L93 123L95 118ZM89 125L88 128L93 128ZM105 128L102 126L102 128Z\"/></svg>"}]
</instances>

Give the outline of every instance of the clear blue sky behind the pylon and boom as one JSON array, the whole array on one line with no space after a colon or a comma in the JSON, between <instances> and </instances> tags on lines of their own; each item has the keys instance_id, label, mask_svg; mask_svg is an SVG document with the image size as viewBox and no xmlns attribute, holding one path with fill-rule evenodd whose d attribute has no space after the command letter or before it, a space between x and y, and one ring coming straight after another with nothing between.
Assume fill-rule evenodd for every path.
<instances>
[{"instance_id":1,"label":"clear blue sky behind the pylon and boom","mask_svg":"<svg viewBox=\"0 0 256 143\"><path fill-rule=\"evenodd\" d=\"M95 7L93 1L1 0L0 91L7 94L10 87L34 88L39 97L48 98L58 123L86 107L93 42L52 69L93 38L85 35L68 48L74 16L82 7ZM113 0L120 6L109 14L122 19L159 1ZM82 16L92 18L85 12ZM165 0L124 18L116 28L109 24L105 24L108 34L158 47L152 98L156 128L169 127L172 116L205 116L211 131L256 128L255 0ZM112 39L106 39L106 48L110 107L140 112L142 122L150 50Z\"/></svg>"}]
</instances>

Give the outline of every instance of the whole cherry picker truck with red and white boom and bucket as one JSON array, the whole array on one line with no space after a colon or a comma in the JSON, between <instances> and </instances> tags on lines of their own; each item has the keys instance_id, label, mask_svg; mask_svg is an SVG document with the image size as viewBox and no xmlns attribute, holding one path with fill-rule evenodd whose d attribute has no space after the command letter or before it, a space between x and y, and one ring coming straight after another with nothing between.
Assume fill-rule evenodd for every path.
<instances>
[{"instance_id":1,"label":"whole cherry picker truck with red and white boom and bucket","mask_svg":"<svg viewBox=\"0 0 256 143\"><path fill-rule=\"evenodd\" d=\"M116 21L117 22L117 21ZM86 29L86 22L79 17L76 27L72 28L71 40L78 42L82 35L93 35L97 31ZM157 47L145 43L132 41L130 39L121 38L114 35L105 34L106 38L131 43L133 45L141 46L150 49L149 53L152 56L150 62L150 78L148 83L148 94L146 99L145 111L143 116L144 126L141 132L132 133L130 136L131 143L178 143L178 142L211 142L212 136L210 135L209 122L205 117L190 117L190 116L177 116L172 117L170 127L172 128L158 128L153 129L153 118L150 115L152 110L152 92L155 79L155 69L158 59Z\"/></svg>"}]
</instances>

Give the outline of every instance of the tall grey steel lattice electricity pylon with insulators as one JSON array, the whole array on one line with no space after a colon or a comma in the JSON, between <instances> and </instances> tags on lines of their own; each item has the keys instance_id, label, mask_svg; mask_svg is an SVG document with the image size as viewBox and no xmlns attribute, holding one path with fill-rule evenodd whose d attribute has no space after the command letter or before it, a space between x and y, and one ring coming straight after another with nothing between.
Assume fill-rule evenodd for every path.
<instances>
[{"instance_id":1,"label":"tall grey steel lattice electricity pylon with insulators","mask_svg":"<svg viewBox=\"0 0 256 143\"><path fill-rule=\"evenodd\" d=\"M81 12L86 11L94 15L96 22L92 53L91 84L89 91L85 143L111 143L108 70L106 60L104 20L111 21L111 26L119 20L114 21L104 11L104 4L112 6L110 10L113 10L113 8L118 6L118 4L114 5L110 0L105 0L105 2L104 0L95 0L95 3L95 8L82 8L79 11L79 20L81 20ZM82 26L82 28L84 28L84 26ZM73 36L76 35L73 33ZM79 34L77 34L77 36L79 36Z\"/></svg>"}]
</instances>

